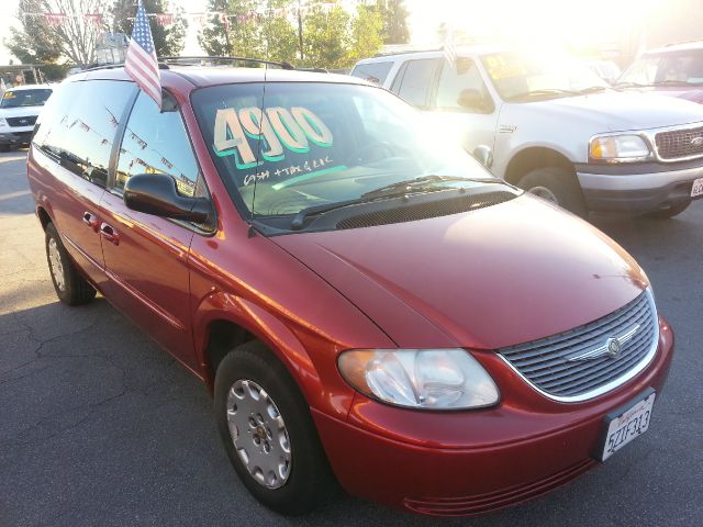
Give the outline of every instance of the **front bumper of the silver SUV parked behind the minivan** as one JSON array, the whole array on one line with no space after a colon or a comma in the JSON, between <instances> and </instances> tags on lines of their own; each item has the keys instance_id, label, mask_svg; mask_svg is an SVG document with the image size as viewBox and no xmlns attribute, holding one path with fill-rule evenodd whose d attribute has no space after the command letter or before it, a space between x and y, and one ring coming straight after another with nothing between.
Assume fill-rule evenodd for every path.
<instances>
[{"instance_id":1,"label":"front bumper of the silver SUV parked behind the minivan","mask_svg":"<svg viewBox=\"0 0 703 527\"><path fill-rule=\"evenodd\" d=\"M578 165L577 177L589 210L654 212L691 201L703 161L685 164Z\"/></svg>"}]
</instances>

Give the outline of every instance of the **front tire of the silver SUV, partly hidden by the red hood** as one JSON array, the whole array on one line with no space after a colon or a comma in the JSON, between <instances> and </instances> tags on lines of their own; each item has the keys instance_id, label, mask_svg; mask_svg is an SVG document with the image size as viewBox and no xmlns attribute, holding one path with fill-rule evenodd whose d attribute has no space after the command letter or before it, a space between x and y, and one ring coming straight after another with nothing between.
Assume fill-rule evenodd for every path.
<instances>
[{"instance_id":1,"label":"front tire of the silver SUV, partly hidden by the red hood","mask_svg":"<svg viewBox=\"0 0 703 527\"><path fill-rule=\"evenodd\" d=\"M537 168L527 172L517 187L555 203L577 216L585 217L588 209L581 188L572 172L559 167Z\"/></svg>"}]
</instances>

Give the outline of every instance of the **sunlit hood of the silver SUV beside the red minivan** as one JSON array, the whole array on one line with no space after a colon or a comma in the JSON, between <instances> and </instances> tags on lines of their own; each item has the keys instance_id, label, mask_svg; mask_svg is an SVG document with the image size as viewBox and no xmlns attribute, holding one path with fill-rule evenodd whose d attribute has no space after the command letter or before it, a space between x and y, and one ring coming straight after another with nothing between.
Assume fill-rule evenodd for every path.
<instances>
[{"instance_id":1,"label":"sunlit hood of the silver SUV beside the red minivan","mask_svg":"<svg viewBox=\"0 0 703 527\"><path fill-rule=\"evenodd\" d=\"M600 132L677 126L703 121L703 106L689 101L657 97L652 93L607 90L590 96L565 97L548 101L524 103L543 113L550 113L561 122L565 117L590 121Z\"/></svg>"}]
</instances>

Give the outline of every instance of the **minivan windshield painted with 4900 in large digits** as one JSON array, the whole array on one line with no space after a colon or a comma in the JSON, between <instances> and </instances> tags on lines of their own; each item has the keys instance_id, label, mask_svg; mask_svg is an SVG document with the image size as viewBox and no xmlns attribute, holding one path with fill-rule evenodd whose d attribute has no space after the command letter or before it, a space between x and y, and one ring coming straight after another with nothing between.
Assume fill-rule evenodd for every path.
<instances>
[{"instance_id":1,"label":"minivan windshield painted with 4900 in large digits","mask_svg":"<svg viewBox=\"0 0 703 527\"><path fill-rule=\"evenodd\" d=\"M263 98L260 83L192 96L231 195L259 218L362 199L427 176L495 180L448 131L428 127L420 112L380 88L270 82L264 108ZM433 184L484 183L443 178Z\"/></svg>"}]
</instances>

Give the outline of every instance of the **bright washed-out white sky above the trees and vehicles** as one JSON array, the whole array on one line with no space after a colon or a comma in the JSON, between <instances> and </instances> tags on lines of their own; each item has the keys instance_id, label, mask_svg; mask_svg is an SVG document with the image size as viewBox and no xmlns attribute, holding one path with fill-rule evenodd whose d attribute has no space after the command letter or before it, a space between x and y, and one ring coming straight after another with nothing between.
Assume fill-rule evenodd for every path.
<instances>
[{"instance_id":1,"label":"bright washed-out white sky above the trees and vehicles","mask_svg":"<svg viewBox=\"0 0 703 527\"><path fill-rule=\"evenodd\" d=\"M693 3L701 0L693 0ZM172 0L187 12L202 12L205 0ZM525 40L589 41L609 34L637 31L652 14L655 5L674 7L692 0L405 0L413 44L436 45L437 26L451 23L471 34L501 34ZM9 36L19 0L0 0L2 12L12 13L0 20L0 64L11 58L2 45ZM703 30L702 30L703 31ZM696 35L698 36L698 35ZM700 36L703 37L703 34ZM190 27L183 55L198 55L197 30Z\"/></svg>"}]
</instances>

